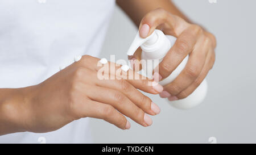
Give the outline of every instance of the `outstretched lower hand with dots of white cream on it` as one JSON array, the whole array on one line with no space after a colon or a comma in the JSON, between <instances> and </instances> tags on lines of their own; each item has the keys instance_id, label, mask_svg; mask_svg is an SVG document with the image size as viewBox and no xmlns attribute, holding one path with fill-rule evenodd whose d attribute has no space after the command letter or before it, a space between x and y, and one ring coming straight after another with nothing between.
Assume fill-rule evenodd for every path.
<instances>
[{"instance_id":1,"label":"outstretched lower hand with dots of white cream on it","mask_svg":"<svg viewBox=\"0 0 256 155\"><path fill-rule=\"evenodd\" d=\"M149 79L99 79L99 59L82 56L81 60L54 74L39 85L27 87L19 122L24 131L49 132L80 118L104 119L121 129L129 129L125 116L147 127L152 124L147 115L159 114L160 109L139 90L159 94L163 87L148 85ZM112 65L110 65L112 64ZM108 62L109 69L115 66ZM109 73L111 74L111 73ZM147 113L147 114L146 114ZM125 115L125 116L124 116Z\"/></svg>"}]
</instances>

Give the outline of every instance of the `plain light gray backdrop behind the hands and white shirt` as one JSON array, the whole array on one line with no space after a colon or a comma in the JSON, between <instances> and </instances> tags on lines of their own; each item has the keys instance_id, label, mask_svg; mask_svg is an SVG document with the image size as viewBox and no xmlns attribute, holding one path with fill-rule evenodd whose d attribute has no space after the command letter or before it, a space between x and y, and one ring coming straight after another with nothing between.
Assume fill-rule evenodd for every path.
<instances>
[{"instance_id":1,"label":"plain light gray backdrop behind the hands and white shirt","mask_svg":"<svg viewBox=\"0 0 256 155\"><path fill-rule=\"evenodd\" d=\"M96 143L256 143L256 1L176 0L185 14L217 37L216 62L208 74L208 95L192 110L177 110L158 95L149 95L162 112L151 127L131 122L122 131L92 119ZM101 56L127 60L137 27L115 8Z\"/></svg>"}]
</instances>

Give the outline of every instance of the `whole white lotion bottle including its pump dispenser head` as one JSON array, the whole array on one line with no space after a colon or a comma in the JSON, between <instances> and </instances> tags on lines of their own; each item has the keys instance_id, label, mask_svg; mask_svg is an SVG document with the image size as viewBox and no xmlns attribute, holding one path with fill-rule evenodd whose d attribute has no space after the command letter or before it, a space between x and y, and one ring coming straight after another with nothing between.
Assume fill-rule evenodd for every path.
<instances>
[{"instance_id":1,"label":"whole white lotion bottle including its pump dispenser head","mask_svg":"<svg viewBox=\"0 0 256 155\"><path fill-rule=\"evenodd\" d=\"M152 77L152 72L155 67L163 60L163 57L167 54L169 49L174 45L176 37L170 35L164 35L160 30L155 30L150 36L142 38L139 36L139 32L131 44L127 55L131 56L134 52L141 47L142 54L141 59L146 60L146 63L142 63L142 74L144 73L148 78ZM148 63L148 60L152 60L152 63ZM160 81L160 85L164 86L172 82L187 64L188 56L180 63L179 66L172 72L170 76ZM149 65L150 64L150 65ZM174 100L168 102L180 109L193 108L200 104L207 94L207 81L204 81L197 87L191 95L185 99Z\"/></svg>"}]
</instances>

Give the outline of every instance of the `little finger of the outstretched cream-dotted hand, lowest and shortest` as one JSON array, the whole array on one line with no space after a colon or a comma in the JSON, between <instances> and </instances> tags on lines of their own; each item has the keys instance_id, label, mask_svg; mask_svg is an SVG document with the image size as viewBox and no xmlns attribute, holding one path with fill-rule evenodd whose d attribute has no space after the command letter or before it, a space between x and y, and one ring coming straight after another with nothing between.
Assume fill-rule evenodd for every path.
<instances>
[{"instance_id":1,"label":"little finger of the outstretched cream-dotted hand, lowest and shortest","mask_svg":"<svg viewBox=\"0 0 256 155\"><path fill-rule=\"evenodd\" d=\"M88 99L80 104L79 108L77 108L77 112L84 117L103 119L121 129L129 129L131 127L130 122L125 116L120 114L109 104Z\"/></svg>"}]
</instances>

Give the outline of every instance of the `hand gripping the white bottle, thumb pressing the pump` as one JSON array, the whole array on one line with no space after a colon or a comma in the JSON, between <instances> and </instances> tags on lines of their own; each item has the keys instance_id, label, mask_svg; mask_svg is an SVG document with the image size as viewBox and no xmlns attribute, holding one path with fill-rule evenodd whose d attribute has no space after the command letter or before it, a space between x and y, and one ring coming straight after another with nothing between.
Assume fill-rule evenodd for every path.
<instances>
[{"instance_id":1,"label":"hand gripping the white bottle, thumb pressing the pump","mask_svg":"<svg viewBox=\"0 0 256 155\"><path fill-rule=\"evenodd\" d=\"M159 73L155 72L155 79L168 77L181 61L189 55L187 65L179 76L164 86L160 97L177 100L188 97L207 76L215 61L215 37L195 24L189 24L179 16L172 15L163 9L156 9L144 16L139 26L141 37L147 37L155 30L162 30L166 35L177 37L174 46L168 51L159 64ZM133 68L141 69L141 49L137 49L129 57ZM138 67L138 65L140 65ZM138 71L138 70L136 70Z\"/></svg>"}]
</instances>

